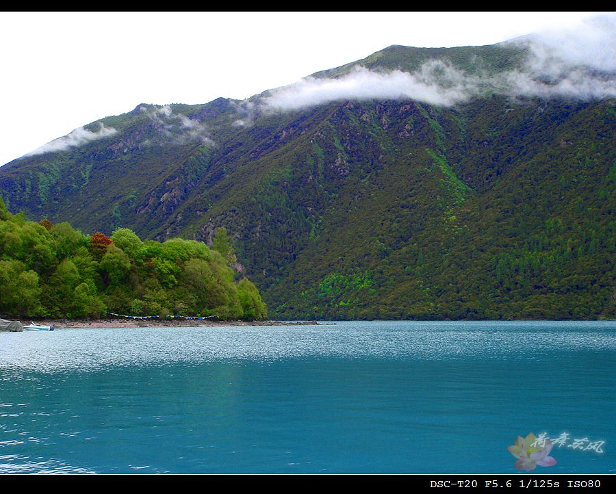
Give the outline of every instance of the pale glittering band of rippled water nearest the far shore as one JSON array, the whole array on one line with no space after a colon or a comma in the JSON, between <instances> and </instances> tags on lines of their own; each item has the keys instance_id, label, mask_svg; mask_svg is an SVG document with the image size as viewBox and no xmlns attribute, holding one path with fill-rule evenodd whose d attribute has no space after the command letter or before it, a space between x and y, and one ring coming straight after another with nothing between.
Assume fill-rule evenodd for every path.
<instances>
[{"instance_id":1,"label":"pale glittering band of rippled water nearest the far shore","mask_svg":"<svg viewBox=\"0 0 616 494\"><path fill-rule=\"evenodd\" d=\"M615 322L343 322L320 326L97 328L4 333L0 369L66 372L305 356L535 359L559 348L614 350ZM7 376L3 376L6 379Z\"/></svg>"}]
</instances>

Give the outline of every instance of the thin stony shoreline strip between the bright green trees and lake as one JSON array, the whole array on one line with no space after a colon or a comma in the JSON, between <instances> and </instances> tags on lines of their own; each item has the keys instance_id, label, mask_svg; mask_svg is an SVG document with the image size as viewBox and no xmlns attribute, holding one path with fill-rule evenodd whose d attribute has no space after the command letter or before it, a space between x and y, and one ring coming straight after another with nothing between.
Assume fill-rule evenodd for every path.
<instances>
[{"instance_id":1,"label":"thin stony shoreline strip between the bright green trees and lake","mask_svg":"<svg viewBox=\"0 0 616 494\"><path fill-rule=\"evenodd\" d=\"M22 324L28 324L23 321ZM65 328L148 328L148 327L197 327L197 326L316 326L316 321L242 321L242 320L183 320L183 319L94 319L94 320L39 320L38 324L56 329Z\"/></svg>"}]
</instances>

